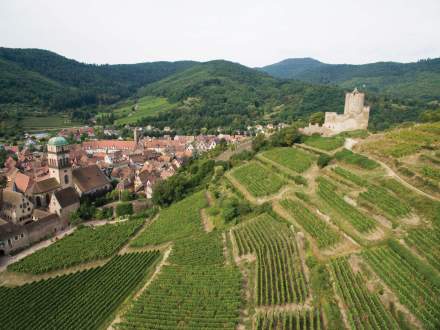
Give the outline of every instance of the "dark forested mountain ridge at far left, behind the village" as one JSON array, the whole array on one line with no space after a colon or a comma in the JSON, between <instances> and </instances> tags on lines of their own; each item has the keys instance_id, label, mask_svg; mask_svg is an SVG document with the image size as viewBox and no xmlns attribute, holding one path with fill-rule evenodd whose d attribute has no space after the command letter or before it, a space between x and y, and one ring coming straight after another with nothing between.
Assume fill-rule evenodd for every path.
<instances>
[{"instance_id":1,"label":"dark forested mountain ridge at far left, behind the village","mask_svg":"<svg viewBox=\"0 0 440 330\"><path fill-rule=\"evenodd\" d=\"M0 106L53 110L112 103L195 62L84 64L41 49L0 48Z\"/></svg>"}]
</instances>

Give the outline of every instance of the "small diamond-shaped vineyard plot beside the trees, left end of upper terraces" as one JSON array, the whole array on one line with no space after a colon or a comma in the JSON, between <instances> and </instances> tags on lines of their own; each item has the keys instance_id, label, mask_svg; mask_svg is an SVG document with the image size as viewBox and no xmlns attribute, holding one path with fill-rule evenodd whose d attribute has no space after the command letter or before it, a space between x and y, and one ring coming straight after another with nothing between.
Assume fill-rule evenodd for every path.
<instances>
[{"instance_id":1,"label":"small diamond-shaped vineyard plot beside the trees, left end of upper terraces","mask_svg":"<svg viewBox=\"0 0 440 330\"><path fill-rule=\"evenodd\" d=\"M274 194L285 184L278 175L257 163L243 165L232 175L255 197Z\"/></svg>"}]
</instances>

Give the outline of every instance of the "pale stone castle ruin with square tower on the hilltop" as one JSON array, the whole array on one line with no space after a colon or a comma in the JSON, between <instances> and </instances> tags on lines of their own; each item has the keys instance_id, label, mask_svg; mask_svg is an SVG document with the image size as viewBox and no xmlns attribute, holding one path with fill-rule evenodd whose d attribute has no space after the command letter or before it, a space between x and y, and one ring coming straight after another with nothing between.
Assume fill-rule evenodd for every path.
<instances>
[{"instance_id":1,"label":"pale stone castle ruin with square tower on the hilltop","mask_svg":"<svg viewBox=\"0 0 440 330\"><path fill-rule=\"evenodd\" d=\"M370 107L364 105L364 99L365 94L355 88L353 92L345 94L344 114L326 112L322 126L309 124L309 126L301 128L300 131L306 135L333 136L345 131L367 129Z\"/></svg>"}]
</instances>

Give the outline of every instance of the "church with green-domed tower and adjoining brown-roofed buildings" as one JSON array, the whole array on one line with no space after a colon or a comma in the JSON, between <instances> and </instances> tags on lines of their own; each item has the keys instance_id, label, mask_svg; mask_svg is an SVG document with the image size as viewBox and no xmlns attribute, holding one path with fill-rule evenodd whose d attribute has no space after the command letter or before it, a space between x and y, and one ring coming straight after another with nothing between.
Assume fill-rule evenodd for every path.
<instances>
[{"instance_id":1,"label":"church with green-domed tower and adjoining brown-roofed buildings","mask_svg":"<svg viewBox=\"0 0 440 330\"><path fill-rule=\"evenodd\" d=\"M0 190L0 256L65 230L81 196L112 189L97 165L72 169L70 148L63 137L47 143L48 173L40 178L17 173L12 189Z\"/></svg>"}]
</instances>

